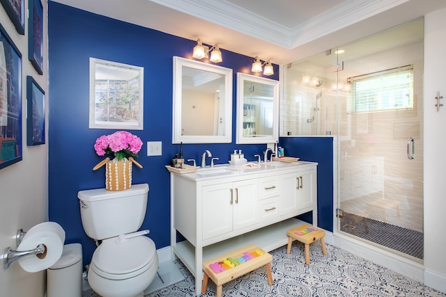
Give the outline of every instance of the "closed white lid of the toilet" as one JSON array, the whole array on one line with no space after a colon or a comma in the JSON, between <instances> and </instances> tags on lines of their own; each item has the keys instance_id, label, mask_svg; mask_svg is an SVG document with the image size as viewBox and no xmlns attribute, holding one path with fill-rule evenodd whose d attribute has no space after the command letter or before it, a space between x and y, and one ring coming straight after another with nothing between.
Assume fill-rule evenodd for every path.
<instances>
[{"instance_id":1,"label":"closed white lid of the toilet","mask_svg":"<svg viewBox=\"0 0 446 297\"><path fill-rule=\"evenodd\" d=\"M155 243L147 236L137 236L125 243L116 238L102 241L91 262L107 274L125 274L146 266L155 257Z\"/></svg>"}]
</instances>

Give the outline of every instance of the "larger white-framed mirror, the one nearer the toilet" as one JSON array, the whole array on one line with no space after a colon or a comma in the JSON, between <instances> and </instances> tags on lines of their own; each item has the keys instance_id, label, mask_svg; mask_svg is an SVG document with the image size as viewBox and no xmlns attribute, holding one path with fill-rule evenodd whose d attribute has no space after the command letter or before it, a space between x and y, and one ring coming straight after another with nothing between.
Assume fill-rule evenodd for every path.
<instances>
[{"instance_id":1,"label":"larger white-framed mirror, the one nearer the toilet","mask_svg":"<svg viewBox=\"0 0 446 297\"><path fill-rule=\"evenodd\" d=\"M172 143L231 143L232 70L174 56Z\"/></svg>"}]
</instances>

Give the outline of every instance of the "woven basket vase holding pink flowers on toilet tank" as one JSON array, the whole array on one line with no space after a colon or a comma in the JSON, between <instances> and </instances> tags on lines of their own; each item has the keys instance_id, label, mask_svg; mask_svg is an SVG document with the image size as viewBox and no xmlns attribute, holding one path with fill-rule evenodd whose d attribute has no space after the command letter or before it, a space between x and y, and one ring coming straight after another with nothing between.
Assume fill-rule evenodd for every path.
<instances>
[{"instance_id":1,"label":"woven basket vase holding pink flowers on toilet tank","mask_svg":"<svg viewBox=\"0 0 446 297\"><path fill-rule=\"evenodd\" d=\"M108 191L124 191L132 186L132 162L123 159L105 163L105 188Z\"/></svg>"}]
</instances>

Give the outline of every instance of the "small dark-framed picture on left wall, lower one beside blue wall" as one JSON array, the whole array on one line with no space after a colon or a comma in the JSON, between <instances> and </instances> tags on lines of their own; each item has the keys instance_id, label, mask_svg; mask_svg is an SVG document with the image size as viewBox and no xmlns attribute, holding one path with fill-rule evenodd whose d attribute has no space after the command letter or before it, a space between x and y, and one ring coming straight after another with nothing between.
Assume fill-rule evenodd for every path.
<instances>
[{"instance_id":1,"label":"small dark-framed picture on left wall, lower one beside blue wall","mask_svg":"<svg viewBox=\"0 0 446 297\"><path fill-rule=\"evenodd\" d=\"M45 92L33 77L26 77L26 144L45 144Z\"/></svg>"}]
</instances>

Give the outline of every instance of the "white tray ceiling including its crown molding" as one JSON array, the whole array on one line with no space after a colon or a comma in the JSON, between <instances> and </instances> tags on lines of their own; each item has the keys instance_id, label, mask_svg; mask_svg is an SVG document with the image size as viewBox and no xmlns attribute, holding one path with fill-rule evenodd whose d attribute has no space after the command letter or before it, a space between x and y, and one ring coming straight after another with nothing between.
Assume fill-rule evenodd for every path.
<instances>
[{"instance_id":1,"label":"white tray ceiling including its crown molding","mask_svg":"<svg viewBox=\"0 0 446 297\"><path fill-rule=\"evenodd\" d=\"M53 1L277 64L446 7L445 0Z\"/></svg>"}]
</instances>

